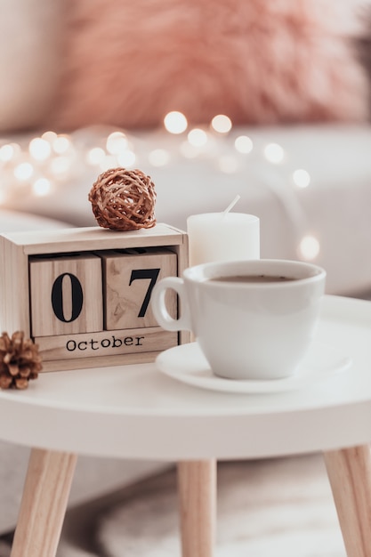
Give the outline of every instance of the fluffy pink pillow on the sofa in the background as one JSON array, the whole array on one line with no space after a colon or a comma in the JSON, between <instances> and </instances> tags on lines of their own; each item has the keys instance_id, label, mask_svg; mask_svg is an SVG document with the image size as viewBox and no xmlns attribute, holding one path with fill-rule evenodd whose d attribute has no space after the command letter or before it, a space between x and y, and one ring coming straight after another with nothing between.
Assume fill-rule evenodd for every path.
<instances>
[{"instance_id":1,"label":"fluffy pink pillow on the sofa in the background","mask_svg":"<svg viewBox=\"0 0 371 557\"><path fill-rule=\"evenodd\" d=\"M352 4L351 0L346 0ZM343 4L342 4L343 5ZM339 0L67 0L49 125L356 121L367 79ZM45 122L46 124L46 122Z\"/></svg>"}]
</instances>

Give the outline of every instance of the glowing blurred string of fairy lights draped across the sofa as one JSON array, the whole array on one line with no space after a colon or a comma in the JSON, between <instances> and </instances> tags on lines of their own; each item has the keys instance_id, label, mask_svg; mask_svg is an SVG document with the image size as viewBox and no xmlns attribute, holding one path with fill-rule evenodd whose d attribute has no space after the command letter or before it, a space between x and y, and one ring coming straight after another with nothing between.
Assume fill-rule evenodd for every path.
<instances>
[{"instance_id":1,"label":"glowing blurred string of fairy lights draped across the sofa","mask_svg":"<svg viewBox=\"0 0 371 557\"><path fill-rule=\"evenodd\" d=\"M63 184L116 166L166 167L203 159L222 174L248 173L273 192L292 225L298 257L315 260L319 239L309 232L300 198L300 191L311 185L310 173L292 167L278 142L261 145L238 131L226 115L216 115L210 125L191 127L187 117L172 111L165 115L162 130L144 136L92 126L70 134L46 131L21 141L0 138L0 205L7 206L20 194L51 196Z\"/></svg>"}]
</instances>

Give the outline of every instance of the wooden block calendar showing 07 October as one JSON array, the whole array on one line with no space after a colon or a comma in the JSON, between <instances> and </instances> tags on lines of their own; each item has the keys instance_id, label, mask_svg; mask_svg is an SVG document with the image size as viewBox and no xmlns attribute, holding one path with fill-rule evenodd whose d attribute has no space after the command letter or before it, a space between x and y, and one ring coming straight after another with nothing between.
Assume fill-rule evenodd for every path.
<instances>
[{"instance_id":1,"label":"wooden block calendar showing 07 October","mask_svg":"<svg viewBox=\"0 0 371 557\"><path fill-rule=\"evenodd\" d=\"M0 235L0 326L39 346L43 371L152 361L189 342L158 327L150 294L188 266L188 237L166 224ZM168 293L173 317L177 297Z\"/></svg>"}]
</instances>

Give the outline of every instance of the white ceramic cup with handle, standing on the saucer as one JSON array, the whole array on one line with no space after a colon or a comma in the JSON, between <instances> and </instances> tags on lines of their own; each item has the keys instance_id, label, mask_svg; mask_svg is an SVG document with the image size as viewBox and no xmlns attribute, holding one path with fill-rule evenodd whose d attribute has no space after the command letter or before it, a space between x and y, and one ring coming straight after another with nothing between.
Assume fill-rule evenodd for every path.
<instances>
[{"instance_id":1,"label":"white ceramic cup with handle, standing on the saucer","mask_svg":"<svg viewBox=\"0 0 371 557\"><path fill-rule=\"evenodd\" d=\"M261 275L292 280L214 280ZM294 375L311 345L325 283L326 271L307 262L211 262L160 280L151 304L161 327L193 332L215 375L278 379ZM168 288L179 295L179 319L166 309Z\"/></svg>"}]
</instances>

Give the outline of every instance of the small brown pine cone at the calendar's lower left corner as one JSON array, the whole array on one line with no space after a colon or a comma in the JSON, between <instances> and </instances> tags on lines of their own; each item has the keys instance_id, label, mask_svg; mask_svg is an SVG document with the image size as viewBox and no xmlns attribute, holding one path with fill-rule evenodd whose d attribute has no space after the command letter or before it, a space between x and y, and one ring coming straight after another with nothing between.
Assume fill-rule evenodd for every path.
<instances>
[{"instance_id":1,"label":"small brown pine cone at the calendar's lower left corner","mask_svg":"<svg viewBox=\"0 0 371 557\"><path fill-rule=\"evenodd\" d=\"M25 339L23 331L12 338L7 333L0 336L0 389L27 389L41 368L38 345Z\"/></svg>"}]
</instances>

